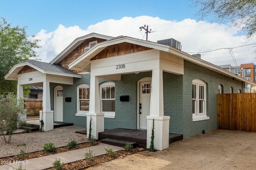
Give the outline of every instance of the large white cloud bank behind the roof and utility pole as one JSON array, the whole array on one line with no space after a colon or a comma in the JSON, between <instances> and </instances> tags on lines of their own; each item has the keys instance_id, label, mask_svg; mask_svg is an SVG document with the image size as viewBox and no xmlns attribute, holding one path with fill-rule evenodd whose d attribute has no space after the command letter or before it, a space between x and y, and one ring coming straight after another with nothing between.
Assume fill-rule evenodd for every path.
<instances>
[{"instance_id":1,"label":"large white cloud bank behind the roof and utility pole","mask_svg":"<svg viewBox=\"0 0 256 170\"><path fill-rule=\"evenodd\" d=\"M238 47L255 43L255 38L246 41L244 35L239 35L238 28L229 27L224 24L208 23L206 21L196 21L184 19L182 21L167 21L158 17L138 16L135 18L124 17L120 20L104 20L90 25L87 30L82 30L79 26L65 27L58 25L53 32L47 33L41 30L36 36L40 39L38 55L42 61L50 62L62 50L64 50L74 39L89 33L100 33L117 37L119 35L146 39L145 31L140 31L139 27L144 24L149 25L149 29L154 31L148 34L148 40L156 42L161 39L174 38L181 42L182 51L192 52L210 51L212 49ZM252 45L233 49L238 65L243 63L254 63L255 48ZM228 49L201 53L202 59L216 65L231 64L234 66L232 57Z\"/></svg>"}]
</instances>

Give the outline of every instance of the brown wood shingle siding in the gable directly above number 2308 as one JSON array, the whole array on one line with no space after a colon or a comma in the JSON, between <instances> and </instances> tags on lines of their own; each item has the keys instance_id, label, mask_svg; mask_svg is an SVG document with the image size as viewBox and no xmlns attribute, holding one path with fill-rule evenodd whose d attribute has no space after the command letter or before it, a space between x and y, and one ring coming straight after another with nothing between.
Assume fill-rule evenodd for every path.
<instances>
[{"instance_id":1,"label":"brown wood shingle siding in the gable directly above number 2308","mask_svg":"<svg viewBox=\"0 0 256 170\"><path fill-rule=\"evenodd\" d=\"M136 53L136 52L146 51L150 49L152 48L124 42L124 43L110 45L106 47L106 49L102 50L91 60L104 59L108 57Z\"/></svg>"}]
</instances>

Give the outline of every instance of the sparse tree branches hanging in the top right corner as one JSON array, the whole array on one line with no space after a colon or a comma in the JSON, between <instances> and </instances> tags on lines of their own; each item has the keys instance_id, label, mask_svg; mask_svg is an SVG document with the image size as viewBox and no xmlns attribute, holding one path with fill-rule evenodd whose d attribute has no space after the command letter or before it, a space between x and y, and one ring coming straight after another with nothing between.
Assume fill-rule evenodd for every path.
<instances>
[{"instance_id":1,"label":"sparse tree branches hanging in the top right corner","mask_svg":"<svg viewBox=\"0 0 256 170\"><path fill-rule=\"evenodd\" d=\"M231 21L248 38L256 32L256 0L194 0L193 5L200 8L197 15L202 19L214 14L217 22Z\"/></svg>"}]
</instances>

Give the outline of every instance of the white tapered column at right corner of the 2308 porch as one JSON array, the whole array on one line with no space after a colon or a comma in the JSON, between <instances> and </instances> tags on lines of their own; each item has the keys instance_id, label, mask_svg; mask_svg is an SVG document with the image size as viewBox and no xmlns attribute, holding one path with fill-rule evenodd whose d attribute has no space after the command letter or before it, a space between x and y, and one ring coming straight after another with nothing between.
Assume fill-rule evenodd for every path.
<instances>
[{"instance_id":1,"label":"white tapered column at right corner of the 2308 porch","mask_svg":"<svg viewBox=\"0 0 256 170\"><path fill-rule=\"evenodd\" d=\"M150 147L154 119L154 147L164 150L169 147L170 116L164 116L163 70L152 70L150 115L147 130L147 148Z\"/></svg>"}]
</instances>

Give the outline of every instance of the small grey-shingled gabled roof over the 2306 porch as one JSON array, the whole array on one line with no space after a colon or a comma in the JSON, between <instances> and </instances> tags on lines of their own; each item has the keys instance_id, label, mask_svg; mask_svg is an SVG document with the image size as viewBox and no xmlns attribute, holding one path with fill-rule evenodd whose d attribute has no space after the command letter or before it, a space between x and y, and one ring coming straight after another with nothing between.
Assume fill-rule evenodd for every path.
<instances>
[{"instance_id":1,"label":"small grey-shingled gabled roof over the 2306 porch","mask_svg":"<svg viewBox=\"0 0 256 170\"><path fill-rule=\"evenodd\" d=\"M59 65L45 63L45 62L36 61L36 60L28 60L23 63L14 65L12 69L4 76L4 78L6 80L17 80L18 72L20 72L20 70L22 70L24 66L30 66L45 74L54 74L54 75L77 77L77 78L81 77L79 74L72 72L71 70L68 70Z\"/></svg>"}]
</instances>

